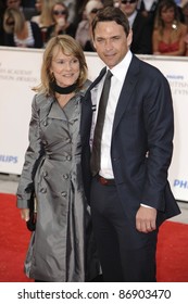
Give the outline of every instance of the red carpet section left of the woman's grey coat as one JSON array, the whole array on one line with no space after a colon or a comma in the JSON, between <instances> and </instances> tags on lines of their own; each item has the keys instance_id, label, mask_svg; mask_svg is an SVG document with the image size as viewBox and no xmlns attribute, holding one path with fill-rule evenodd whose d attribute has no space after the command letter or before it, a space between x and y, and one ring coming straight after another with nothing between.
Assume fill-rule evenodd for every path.
<instances>
[{"instance_id":1,"label":"red carpet section left of the woman's grey coat","mask_svg":"<svg viewBox=\"0 0 188 304\"><path fill-rule=\"evenodd\" d=\"M30 238L15 195L0 193L0 282L28 282L23 270Z\"/></svg>"}]
</instances>

